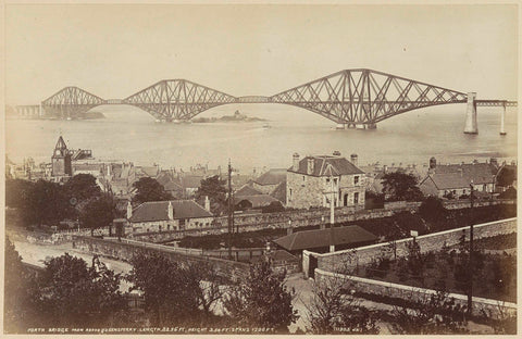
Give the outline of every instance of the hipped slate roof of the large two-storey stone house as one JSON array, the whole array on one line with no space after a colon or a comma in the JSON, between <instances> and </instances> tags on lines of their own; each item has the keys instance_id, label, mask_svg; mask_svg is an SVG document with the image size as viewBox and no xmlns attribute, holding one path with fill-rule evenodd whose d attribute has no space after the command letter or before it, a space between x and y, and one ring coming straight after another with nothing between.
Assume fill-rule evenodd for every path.
<instances>
[{"instance_id":1,"label":"hipped slate roof of the large two-storey stone house","mask_svg":"<svg viewBox=\"0 0 522 339\"><path fill-rule=\"evenodd\" d=\"M309 159L313 160L313 171L311 174L308 174ZM349 162L346 158L335 155L304 156L299 161L299 168L297 171L294 171L294 168L290 167L288 168L288 172L313 176L364 174L364 172Z\"/></svg>"}]
</instances>

